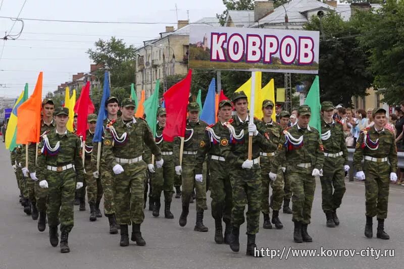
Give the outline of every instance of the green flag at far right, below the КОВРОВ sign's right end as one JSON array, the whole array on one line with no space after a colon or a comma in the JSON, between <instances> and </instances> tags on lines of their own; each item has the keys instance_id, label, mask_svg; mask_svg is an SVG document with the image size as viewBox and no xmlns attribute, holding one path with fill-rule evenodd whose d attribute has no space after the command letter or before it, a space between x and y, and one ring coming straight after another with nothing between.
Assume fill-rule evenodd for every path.
<instances>
[{"instance_id":1,"label":"green flag at far right, below the \u041a\u041e\u0412\u0420\u041e\u0412 sign's right end","mask_svg":"<svg viewBox=\"0 0 404 269\"><path fill-rule=\"evenodd\" d=\"M320 104L320 83L319 76L313 81L310 87L309 93L307 94L305 104L310 106L312 110L312 116L310 117L309 125L316 128L321 134L321 104Z\"/></svg>"}]
</instances>

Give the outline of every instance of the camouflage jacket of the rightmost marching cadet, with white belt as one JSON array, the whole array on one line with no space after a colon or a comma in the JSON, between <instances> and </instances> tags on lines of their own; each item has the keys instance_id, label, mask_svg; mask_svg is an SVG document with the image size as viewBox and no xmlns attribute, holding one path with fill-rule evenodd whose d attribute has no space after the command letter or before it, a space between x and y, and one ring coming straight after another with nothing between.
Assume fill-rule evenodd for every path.
<instances>
[{"instance_id":1,"label":"camouflage jacket of the rightmost marching cadet, with white belt","mask_svg":"<svg viewBox=\"0 0 404 269\"><path fill-rule=\"evenodd\" d=\"M361 131L354 153L354 167L357 171L362 171L362 159L364 156L373 158L387 157L391 167L390 171L395 173L398 159L394 134L385 128L378 133L374 126ZM372 164L377 163L372 162Z\"/></svg>"}]
</instances>

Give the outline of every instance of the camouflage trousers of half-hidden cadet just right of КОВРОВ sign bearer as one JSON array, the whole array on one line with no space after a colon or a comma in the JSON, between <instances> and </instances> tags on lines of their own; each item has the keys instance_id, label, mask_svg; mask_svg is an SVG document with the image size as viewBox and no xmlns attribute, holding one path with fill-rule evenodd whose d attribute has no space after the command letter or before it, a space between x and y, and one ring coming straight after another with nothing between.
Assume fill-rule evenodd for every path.
<instances>
[{"instance_id":1,"label":"camouflage trousers of half-hidden cadet just right of \u041a\u041e\u0412\u0420\u041e\u0412 sign bearer","mask_svg":"<svg viewBox=\"0 0 404 269\"><path fill-rule=\"evenodd\" d=\"M271 207L273 210L279 211L283 202L283 172L279 168L275 181L269 178L269 172L271 172L273 157L261 156L261 180L262 180L262 200L261 211L265 214L269 214L269 187L272 188L271 195Z\"/></svg>"}]
</instances>

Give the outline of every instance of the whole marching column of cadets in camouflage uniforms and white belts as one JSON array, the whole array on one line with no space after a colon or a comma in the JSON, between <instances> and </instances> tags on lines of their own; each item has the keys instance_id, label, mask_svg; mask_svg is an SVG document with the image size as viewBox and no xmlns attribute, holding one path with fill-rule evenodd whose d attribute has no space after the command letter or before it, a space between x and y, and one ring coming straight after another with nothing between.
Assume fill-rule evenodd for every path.
<instances>
[{"instance_id":1,"label":"whole marching column of cadets in camouflage uniforms and white belts","mask_svg":"<svg viewBox=\"0 0 404 269\"><path fill-rule=\"evenodd\" d=\"M232 117L232 106L236 114ZM68 235L73 221L75 190L83 197L87 187L91 222L102 217L99 203L104 194L104 213L108 217L110 233L121 229L121 246L129 245L128 226L132 226L131 240L137 245L146 244L140 226L144 220L147 198L146 178L149 178L150 207L153 216L160 214L161 194L164 196L164 216L173 219L171 202L176 187L181 195L182 212L179 225L185 226L192 192L196 190L195 231L207 232L203 224L207 208L207 180L203 173L206 159L210 160L210 191L212 217L215 220L214 240L229 244L238 252L240 225L247 220L247 255L255 256L256 235L259 232L260 212L264 216L264 229L272 224L282 229L279 210L283 201L283 213L291 213L294 223L293 240L296 243L312 242L308 226L316 179L322 188L322 207L326 226L339 225L336 214L345 192L344 172L347 165L347 149L343 129L333 120L334 106L323 102L321 133L309 126L311 109L301 105L297 110L297 123L288 127L290 114L277 107L277 121L271 119L274 103L264 100L264 118L249 122L248 99L244 92L237 92L232 100L219 103L218 119L213 125L199 121L197 103L188 104L182 164L180 165L180 139L173 143L163 141L166 123L165 109L159 109L156 137L142 118L134 117L135 103L125 98L109 97L106 102L108 117L104 121L104 136L97 160L98 143L91 143L97 115L88 116L87 139L80 138L66 129L68 110L58 107L52 99L42 102L40 143L25 145L11 151L11 163L20 189L20 203L24 212L38 219L38 230L49 226L49 241L59 244L62 253L70 251ZM122 116L118 118L118 111ZM389 181L396 181L397 149L394 135L387 129L386 111L373 110L375 124L362 130L356 145L354 166L357 178L365 181L366 225L365 236L373 237L373 217L377 217L377 238L389 239L384 231L387 218ZM248 133L253 134L252 158L248 155ZM84 167L82 146L85 147ZM151 154L155 162L151 163ZM25 167L28 158L28 167ZM164 158L164 159L163 159ZM362 165L362 159L365 159ZM99 162L99 169L97 169ZM156 166L156 168L155 168ZM181 176L182 183L175 175ZM148 177L146 177L148 176ZM182 185L182 190L179 186ZM269 189L272 187L272 195ZM292 209L289 207L292 199ZM222 221L225 223L223 234Z\"/></svg>"}]
</instances>

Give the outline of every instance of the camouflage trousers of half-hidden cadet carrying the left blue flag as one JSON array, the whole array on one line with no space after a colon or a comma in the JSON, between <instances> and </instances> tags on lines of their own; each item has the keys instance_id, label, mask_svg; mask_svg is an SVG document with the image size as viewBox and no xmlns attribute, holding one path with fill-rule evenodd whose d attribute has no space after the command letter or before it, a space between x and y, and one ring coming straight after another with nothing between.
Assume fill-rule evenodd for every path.
<instances>
[{"instance_id":1,"label":"camouflage trousers of half-hidden cadet carrying the left blue flag","mask_svg":"<svg viewBox=\"0 0 404 269\"><path fill-rule=\"evenodd\" d=\"M112 176L113 172L111 168L107 168L105 162L101 162L99 167L99 177L101 180L101 185L104 190L104 214L114 214L115 213L115 175Z\"/></svg>"}]
</instances>

